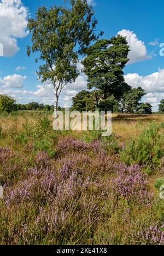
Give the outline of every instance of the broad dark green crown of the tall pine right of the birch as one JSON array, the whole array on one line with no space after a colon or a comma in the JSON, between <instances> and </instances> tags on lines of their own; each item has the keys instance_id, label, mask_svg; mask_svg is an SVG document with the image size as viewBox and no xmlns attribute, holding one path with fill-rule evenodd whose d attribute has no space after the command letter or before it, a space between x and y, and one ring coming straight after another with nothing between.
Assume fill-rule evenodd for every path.
<instances>
[{"instance_id":1,"label":"broad dark green crown of the tall pine right of the birch","mask_svg":"<svg viewBox=\"0 0 164 256\"><path fill-rule=\"evenodd\" d=\"M129 47L125 37L98 40L87 50L83 61L88 76L88 88L103 92L103 99L111 95L120 99L125 92L124 69L128 61Z\"/></svg>"}]
</instances>

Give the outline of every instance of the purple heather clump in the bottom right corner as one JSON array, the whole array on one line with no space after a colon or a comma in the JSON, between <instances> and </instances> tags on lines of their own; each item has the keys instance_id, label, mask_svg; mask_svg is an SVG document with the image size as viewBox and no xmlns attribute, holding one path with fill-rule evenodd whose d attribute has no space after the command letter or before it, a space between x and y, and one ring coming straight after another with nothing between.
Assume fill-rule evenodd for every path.
<instances>
[{"instance_id":1,"label":"purple heather clump in the bottom right corner","mask_svg":"<svg viewBox=\"0 0 164 256\"><path fill-rule=\"evenodd\" d=\"M164 224L159 226L158 223L150 226L147 230L139 232L139 244L146 245L164 245Z\"/></svg>"}]
</instances>

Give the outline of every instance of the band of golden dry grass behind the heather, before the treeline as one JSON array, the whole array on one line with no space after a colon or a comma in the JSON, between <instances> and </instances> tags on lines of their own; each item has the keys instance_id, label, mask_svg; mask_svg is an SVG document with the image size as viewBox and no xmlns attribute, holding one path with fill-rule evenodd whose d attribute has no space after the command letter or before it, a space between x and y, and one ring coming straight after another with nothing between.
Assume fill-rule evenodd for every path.
<instances>
[{"instance_id":1,"label":"band of golden dry grass behind the heather, before the treeline","mask_svg":"<svg viewBox=\"0 0 164 256\"><path fill-rule=\"evenodd\" d=\"M0 126L4 130L8 130L16 126L18 130L22 129L22 124L26 122L37 123L38 118L45 113L48 115L50 121L52 118L52 111L18 111L16 116L0 117ZM164 121L164 115L131 115L131 114L113 114L112 128L113 132L120 136L122 141L129 140L131 137L137 136L145 127L148 127L152 121L161 123ZM74 132L78 134L79 132Z\"/></svg>"}]
</instances>

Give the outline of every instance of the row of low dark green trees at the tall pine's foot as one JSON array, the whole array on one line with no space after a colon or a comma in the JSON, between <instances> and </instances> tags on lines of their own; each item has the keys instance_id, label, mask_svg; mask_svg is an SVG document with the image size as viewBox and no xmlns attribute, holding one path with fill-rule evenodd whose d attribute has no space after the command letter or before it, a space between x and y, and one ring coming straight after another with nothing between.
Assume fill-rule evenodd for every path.
<instances>
[{"instance_id":1,"label":"row of low dark green trees at the tall pine's foot","mask_svg":"<svg viewBox=\"0 0 164 256\"><path fill-rule=\"evenodd\" d=\"M151 114L152 106L150 103L140 102L145 94L145 90L143 90L141 87L130 87L120 99L116 99L114 95L108 96L107 99L103 99L103 92L101 90L93 90L92 92L82 90L72 99L73 110L95 111L98 109L100 111L110 110L115 113Z\"/></svg>"}]
</instances>

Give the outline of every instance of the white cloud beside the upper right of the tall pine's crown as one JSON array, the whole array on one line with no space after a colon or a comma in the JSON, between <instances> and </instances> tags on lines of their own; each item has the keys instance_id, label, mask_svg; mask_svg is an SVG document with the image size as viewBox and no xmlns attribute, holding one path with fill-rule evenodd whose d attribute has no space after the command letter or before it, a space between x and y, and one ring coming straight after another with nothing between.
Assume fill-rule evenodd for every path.
<instances>
[{"instance_id":1,"label":"white cloud beside the upper right of the tall pine's crown","mask_svg":"<svg viewBox=\"0 0 164 256\"><path fill-rule=\"evenodd\" d=\"M128 54L128 58L130 59L130 61L128 61L129 64L151 59L144 42L140 41L133 31L121 30L118 32L118 35L127 38L128 45L130 46L130 52Z\"/></svg>"}]
</instances>

